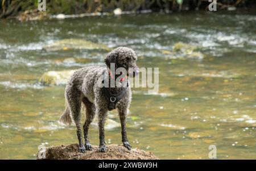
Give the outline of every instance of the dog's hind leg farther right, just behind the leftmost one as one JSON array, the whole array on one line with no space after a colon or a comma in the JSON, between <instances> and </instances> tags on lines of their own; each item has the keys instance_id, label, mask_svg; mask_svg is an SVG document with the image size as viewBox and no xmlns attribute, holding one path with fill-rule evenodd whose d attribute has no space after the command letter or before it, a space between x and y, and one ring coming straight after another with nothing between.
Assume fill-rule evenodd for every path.
<instances>
[{"instance_id":1,"label":"dog's hind leg farther right, just behind the leftmost one","mask_svg":"<svg viewBox=\"0 0 256 171\"><path fill-rule=\"evenodd\" d=\"M90 123L92 123L95 116L95 107L92 102L90 102L86 97L82 98L82 103L84 103L86 108L86 120L84 123L84 140L85 140L85 149L92 150L92 145L90 145L88 138L88 130Z\"/></svg>"}]
</instances>

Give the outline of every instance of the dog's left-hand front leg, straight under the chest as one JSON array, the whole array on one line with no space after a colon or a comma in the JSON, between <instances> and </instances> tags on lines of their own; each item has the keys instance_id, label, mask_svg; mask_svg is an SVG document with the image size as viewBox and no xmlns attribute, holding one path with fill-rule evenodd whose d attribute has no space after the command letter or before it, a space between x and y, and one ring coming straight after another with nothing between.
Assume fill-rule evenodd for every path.
<instances>
[{"instance_id":1,"label":"dog's left-hand front leg, straight under the chest","mask_svg":"<svg viewBox=\"0 0 256 171\"><path fill-rule=\"evenodd\" d=\"M100 110L98 113L98 129L100 132L100 152L106 152L104 124L108 111Z\"/></svg>"}]
</instances>

